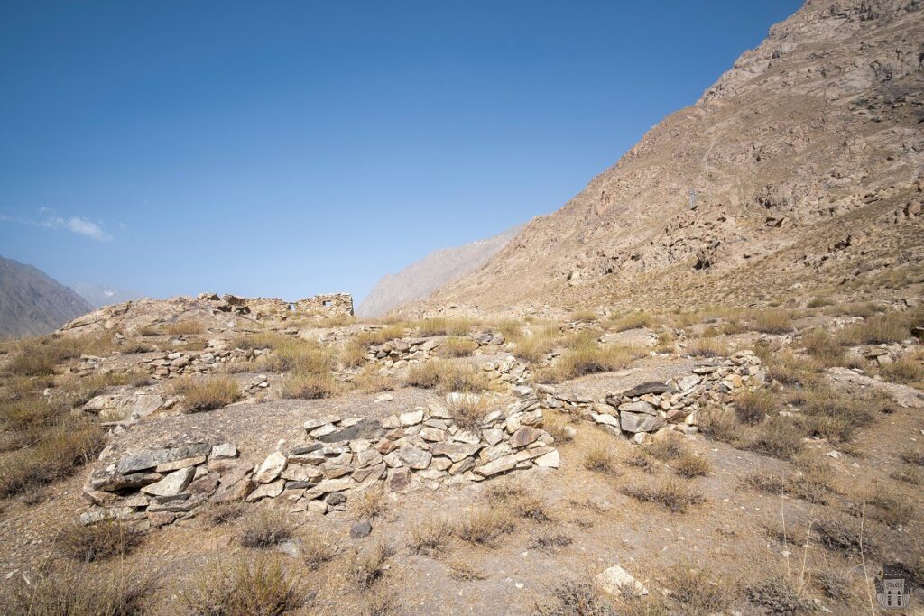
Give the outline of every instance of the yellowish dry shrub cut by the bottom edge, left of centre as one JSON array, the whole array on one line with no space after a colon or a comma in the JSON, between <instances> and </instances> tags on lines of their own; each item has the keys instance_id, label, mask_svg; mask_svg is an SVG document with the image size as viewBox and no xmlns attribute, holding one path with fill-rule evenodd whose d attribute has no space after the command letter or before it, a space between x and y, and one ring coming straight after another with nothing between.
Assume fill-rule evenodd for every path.
<instances>
[{"instance_id":1,"label":"yellowish dry shrub cut by the bottom edge, left of centre","mask_svg":"<svg viewBox=\"0 0 924 616\"><path fill-rule=\"evenodd\" d=\"M211 563L179 597L193 614L277 616L302 604L300 582L298 574L286 572L281 557L249 555Z\"/></svg>"}]
</instances>

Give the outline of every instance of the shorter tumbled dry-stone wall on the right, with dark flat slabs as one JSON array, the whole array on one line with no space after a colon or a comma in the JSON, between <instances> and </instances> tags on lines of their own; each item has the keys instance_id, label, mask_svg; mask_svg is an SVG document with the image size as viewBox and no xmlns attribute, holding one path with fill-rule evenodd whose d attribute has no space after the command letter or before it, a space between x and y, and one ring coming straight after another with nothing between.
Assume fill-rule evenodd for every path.
<instances>
[{"instance_id":1,"label":"shorter tumbled dry-stone wall on the right, with dark flat slabs","mask_svg":"<svg viewBox=\"0 0 924 616\"><path fill-rule=\"evenodd\" d=\"M667 382L647 381L625 392L609 393L600 402L560 393L548 385L540 385L539 391L545 407L586 417L640 443L663 429L697 432L700 408L727 404L730 393L758 387L765 380L760 358L751 351L739 351L725 359L702 362L692 374Z\"/></svg>"}]
</instances>

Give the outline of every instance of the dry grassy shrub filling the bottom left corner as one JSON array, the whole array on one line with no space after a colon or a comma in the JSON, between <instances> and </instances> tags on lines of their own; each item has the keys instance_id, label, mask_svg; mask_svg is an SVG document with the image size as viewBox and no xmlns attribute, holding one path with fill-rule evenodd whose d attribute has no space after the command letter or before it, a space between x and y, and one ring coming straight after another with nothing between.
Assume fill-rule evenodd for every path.
<instances>
[{"instance_id":1,"label":"dry grassy shrub filling the bottom left corner","mask_svg":"<svg viewBox=\"0 0 924 616\"><path fill-rule=\"evenodd\" d=\"M142 602L151 591L151 578L137 570L68 566L31 583L17 575L0 601L17 616L138 616L146 613Z\"/></svg>"}]
</instances>

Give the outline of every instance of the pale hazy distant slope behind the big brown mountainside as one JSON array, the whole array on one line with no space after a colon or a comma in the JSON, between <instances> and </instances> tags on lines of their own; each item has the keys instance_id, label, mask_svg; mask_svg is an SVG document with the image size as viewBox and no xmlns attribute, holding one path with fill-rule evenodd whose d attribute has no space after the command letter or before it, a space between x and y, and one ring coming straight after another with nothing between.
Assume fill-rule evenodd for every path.
<instances>
[{"instance_id":1,"label":"pale hazy distant slope behind the big brown mountainside","mask_svg":"<svg viewBox=\"0 0 924 616\"><path fill-rule=\"evenodd\" d=\"M523 225L464 246L434 250L401 272L386 274L359 304L359 317L381 317L407 302L429 297L433 291L471 272L504 248Z\"/></svg>"}]
</instances>

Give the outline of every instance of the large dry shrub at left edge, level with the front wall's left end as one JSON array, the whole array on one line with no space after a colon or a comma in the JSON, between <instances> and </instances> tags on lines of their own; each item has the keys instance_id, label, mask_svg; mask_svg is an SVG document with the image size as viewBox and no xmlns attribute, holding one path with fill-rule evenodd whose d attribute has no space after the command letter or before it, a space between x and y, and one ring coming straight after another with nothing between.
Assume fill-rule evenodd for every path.
<instances>
[{"instance_id":1,"label":"large dry shrub at left edge, level with the front wall's left end","mask_svg":"<svg viewBox=\"0 0 924 616\"><path fill-rule=\"evenodd\" d=\"M103 429L83 417L64 417L35 433L28 447L0 458L0 497L69 477L103 449Z\"/></svg>"}]
</instances>

